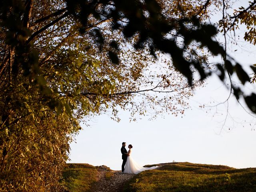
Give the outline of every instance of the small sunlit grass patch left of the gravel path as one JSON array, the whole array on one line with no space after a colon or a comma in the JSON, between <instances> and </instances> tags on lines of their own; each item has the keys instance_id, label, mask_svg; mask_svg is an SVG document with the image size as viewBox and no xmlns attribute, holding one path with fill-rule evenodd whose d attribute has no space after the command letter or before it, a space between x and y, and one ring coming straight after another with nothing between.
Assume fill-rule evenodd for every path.
<instances>
[{"instance_id":1,"label":"small sunlit grass patch left of the gravel path","mask_svg":"<svg viewBox=\"0 0 256 192\"><path fill-rule=\"evenodd\" d=\"M86 192L96 182L97 170L89 164L66 164L60 181L70 192Z\"/></svg>"}]
</instances>

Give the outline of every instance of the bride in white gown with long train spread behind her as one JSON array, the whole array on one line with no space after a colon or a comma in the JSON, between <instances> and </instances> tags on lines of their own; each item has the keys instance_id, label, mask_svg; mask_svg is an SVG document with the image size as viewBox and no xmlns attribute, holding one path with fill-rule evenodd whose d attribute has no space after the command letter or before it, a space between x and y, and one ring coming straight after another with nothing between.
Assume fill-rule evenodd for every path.
<instances>
[{"instance_id":1,"label":"bride in white gown with long train spread behind her","mask_svg":"<svg viewBox=\"0 0 256 192\"><path fill-rule=\"evenodd\" d=\"M151 170L151 169L158 168L158 166L149 167L149 168L139 166L131 157L132 145L131 144L128 145L128 148L129 148L128 153L127 153L128 157L127 157L127 161L125 164L124 173L138 174L145 170Z\"/></svg>"}]
</instances>

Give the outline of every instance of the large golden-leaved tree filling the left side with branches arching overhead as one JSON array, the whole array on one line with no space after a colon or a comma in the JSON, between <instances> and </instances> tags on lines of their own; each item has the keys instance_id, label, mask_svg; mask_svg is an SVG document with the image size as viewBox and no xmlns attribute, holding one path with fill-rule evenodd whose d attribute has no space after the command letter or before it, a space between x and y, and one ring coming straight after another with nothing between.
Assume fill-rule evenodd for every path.
<instances>
[{"instance_id":1,"label":"large golden-leaved tree filling the left side with branches arching overhead","mask_svg":"<svg viewBox=\"0 0 256 192\"><path fill-rule=\"evenodd\" d=\"M84 116L111 110L119 120L118 106L132 116L183 113L212 73L212 54L225 60L216 65L221 80L225 71L250 80L226 60L213 40L218 30L206 22L209 6L222 1L0 3L2 191L60 190L69 142Z\"/></svg>"}]
</instances>

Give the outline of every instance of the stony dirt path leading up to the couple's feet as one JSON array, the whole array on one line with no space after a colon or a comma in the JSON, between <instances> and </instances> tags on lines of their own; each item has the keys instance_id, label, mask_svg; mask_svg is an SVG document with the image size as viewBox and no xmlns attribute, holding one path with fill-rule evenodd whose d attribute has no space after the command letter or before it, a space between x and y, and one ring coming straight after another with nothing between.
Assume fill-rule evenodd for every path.
<instances>
[{"instance_id":1,"label":"stony dirt path leading up to the couple's feet","mask_svg":"<svg viewBox=\"0 0 256 192\"><path fill-rule=\"evenodd\" d=\"M93 185L92 192L122 192L125 182L135 176L110 170L106 166L98 166L97 169L97 182Z\"/></svg>"}]
</instances>

